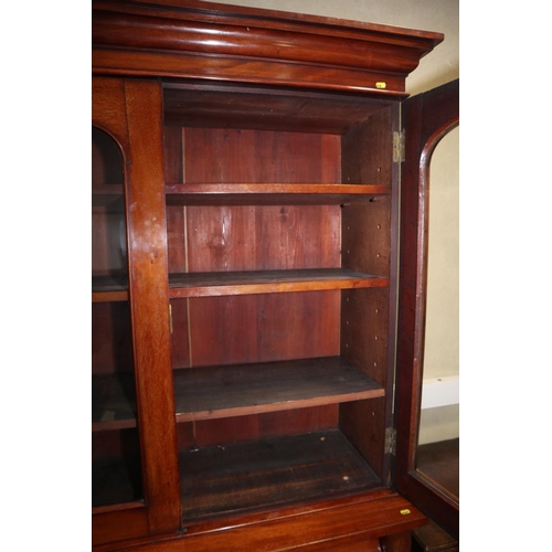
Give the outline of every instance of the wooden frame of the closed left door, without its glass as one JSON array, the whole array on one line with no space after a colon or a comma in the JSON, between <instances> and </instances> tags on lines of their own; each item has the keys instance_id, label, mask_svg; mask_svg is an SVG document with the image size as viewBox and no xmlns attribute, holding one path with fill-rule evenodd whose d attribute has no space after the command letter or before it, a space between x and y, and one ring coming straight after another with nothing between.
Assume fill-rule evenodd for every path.
<instances>
[{"instance_id":1,"label":"wooden frame of the closed left door, without its glass","mask_svg":"<svg viewBox=\"0 0 552 552\"><path fill-rule=\"evenodd\" d=\"M93 510L96 545L177 533L181 508L170 355L161 83L94 77L92 121L116 140L125 163L129 298L145 493L144 505Z\"/></svg>"}]
</instances>

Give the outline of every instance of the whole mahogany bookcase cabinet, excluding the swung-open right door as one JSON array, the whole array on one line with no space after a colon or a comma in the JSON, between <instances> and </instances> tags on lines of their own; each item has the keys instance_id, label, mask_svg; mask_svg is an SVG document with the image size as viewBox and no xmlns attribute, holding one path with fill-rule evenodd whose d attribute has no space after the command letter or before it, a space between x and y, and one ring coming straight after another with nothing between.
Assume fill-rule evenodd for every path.
<instances>
[{"instance_id":1,"label":"whole mahogany bookcase cabinet, excluding the swung-open right door","mask_svg":"<svg viewBox=\"0 0 552 552\"><path fill-rule=\"evenodd\" d=\"M93 544L407 550L400 108L438 33L93 2Z\"/></svg>"}]
</instances>

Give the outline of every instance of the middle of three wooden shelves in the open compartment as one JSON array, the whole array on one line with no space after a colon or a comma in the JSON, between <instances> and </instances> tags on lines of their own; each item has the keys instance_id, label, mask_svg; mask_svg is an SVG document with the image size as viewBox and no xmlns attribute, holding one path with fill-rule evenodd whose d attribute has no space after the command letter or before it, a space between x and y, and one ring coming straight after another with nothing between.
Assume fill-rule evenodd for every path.
<instances>
[{"instance_id":1,"label":"middle of three wooden shelves in the open compartment","mask_svg":"<svg viewBox=\"0 0 552 552\"><path fill-rule=\"evenodd\" d=\"M169 276L171 299L386 287L389 279L347 268L187 273Z\"/></svg>"}]
</instances>

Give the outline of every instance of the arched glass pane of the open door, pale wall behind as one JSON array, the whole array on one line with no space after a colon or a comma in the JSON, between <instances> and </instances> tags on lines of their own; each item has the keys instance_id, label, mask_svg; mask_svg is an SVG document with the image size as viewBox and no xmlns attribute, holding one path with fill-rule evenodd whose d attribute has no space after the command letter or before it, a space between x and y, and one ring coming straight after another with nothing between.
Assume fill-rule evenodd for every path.
<instances>
[{"instance_id":1,"label":"arched glass pane of the open door, pale wall behind","mask_svg":"<svg viewBox=\"0 0 552 552\"><path fill-rule=\"evenodd\" d=\"M432 157L424 386L416 469L459 502L459 129Z\"/></svg>"}]
</instances>

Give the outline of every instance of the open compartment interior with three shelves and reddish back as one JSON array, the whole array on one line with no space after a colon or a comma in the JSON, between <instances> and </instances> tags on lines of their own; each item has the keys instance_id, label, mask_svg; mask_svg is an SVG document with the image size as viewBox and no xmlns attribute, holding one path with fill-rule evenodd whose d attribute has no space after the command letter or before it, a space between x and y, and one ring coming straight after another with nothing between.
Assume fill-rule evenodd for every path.
<instances>
[{"instance_id":1,"label":"open compartment interior with three shelves and reddish back","mask_svg":"<svg viewBox=\"0 0 552 552\"><path fill-rule=\"evenodd\" d=\"M381 100L167 86L184 522L385 485L391 118Z\"/></svg>"}]
</instances>

